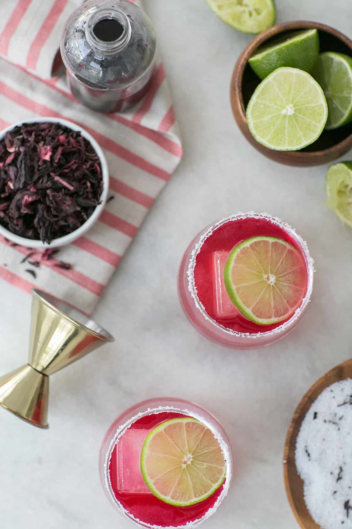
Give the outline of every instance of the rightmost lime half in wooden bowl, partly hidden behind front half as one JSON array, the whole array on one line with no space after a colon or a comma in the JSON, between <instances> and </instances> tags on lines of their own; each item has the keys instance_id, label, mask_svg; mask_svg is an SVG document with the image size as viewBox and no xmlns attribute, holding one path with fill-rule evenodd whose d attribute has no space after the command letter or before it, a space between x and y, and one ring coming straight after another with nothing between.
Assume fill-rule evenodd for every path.
<instances>
[{"instance_id":1,"label":"rightmost lime half in wooden bowl, partly hidden behind front half","mask_svg":"<svg viewBox=\"0 0 352 529\"><path fill-rule=\"evenodd\" d=\"M320 53L312 76L324 90L329 115L326 129L352 120L352 59L343 53Z\"/></svg>"}]
</instances>

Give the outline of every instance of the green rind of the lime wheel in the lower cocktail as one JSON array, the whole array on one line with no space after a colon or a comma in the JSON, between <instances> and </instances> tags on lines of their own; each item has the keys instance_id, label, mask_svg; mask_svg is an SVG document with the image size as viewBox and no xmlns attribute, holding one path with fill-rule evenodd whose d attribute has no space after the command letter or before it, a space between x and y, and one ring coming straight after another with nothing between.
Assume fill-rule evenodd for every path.
<instances>
[{"instance_id":1,"label":"green rind of the lime wheel in the lower cocktail","mask_svg":"<svg viewBox=\"0 0 352 529\"><path fill-rule=\"evenodd\" d=\"M148 489L153 494L153 496L156 496L161 501L164 501L164 503L167 503L169 505L174 505L175 507L188 507L189 505L195 505L196 503L201 503L201 501L204 501L205 499L210 497L212 494L214 494L214 492L219 487L221 487L221 485L223 484L223 482L226 479L226 465L224 466L223 475L220 478L220 480L217 482L217 484L215 484L211 488L211 490L208 491L207 494L205 494L204 496L201 496L199 498L195 498L194 501L191 501L190 503L182 503L182 502L178 502L178 501L173 501L172 499L159 494L159 492L157 490L155 490L155 487L153 485L153 481L151 479L149 479L148 471L146 469L146 457L148 455L150 442L153 439L153 437L155 436L155 434L157 434L161 430L164 430L164 428L166 426L168 426L169 424L172 424L172 423L175 423L175 422L184 422L184 423L185 422L195 422L195 423L199 423L200 421L198 421L197 419L195 419L193 417L180 417L180 418L169 419L168 421L165 421L164 423L159 424L159 426L156 426L156 428L154 428L154 430L152 430L151 432L148 433L148 435L146 436L146 438L144 440L144 444L142 446L142 450L141 450L141 453L140 453L140 471L142 473L142 477L144 479L145 484L147 485Z\"/></svg>"}]
</instances>

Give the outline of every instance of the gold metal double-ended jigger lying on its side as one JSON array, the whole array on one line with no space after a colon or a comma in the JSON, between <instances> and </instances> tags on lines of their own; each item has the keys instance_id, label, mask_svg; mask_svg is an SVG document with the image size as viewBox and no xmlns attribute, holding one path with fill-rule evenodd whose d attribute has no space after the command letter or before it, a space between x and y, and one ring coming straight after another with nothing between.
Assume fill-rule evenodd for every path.
<instances>
[{"instance_id":1,"label":"gold metal double-ended jigger lying on its side","mask_svg":"<svg viewBox=\"0 0 352 529\"><path fill-rule=\"evenodd\" d=\"M54 296L36 289L32 293L29 361L0 378L0 406L33 426L49 428L49 375L114 339Z\"/></svg>"}]
</instances>

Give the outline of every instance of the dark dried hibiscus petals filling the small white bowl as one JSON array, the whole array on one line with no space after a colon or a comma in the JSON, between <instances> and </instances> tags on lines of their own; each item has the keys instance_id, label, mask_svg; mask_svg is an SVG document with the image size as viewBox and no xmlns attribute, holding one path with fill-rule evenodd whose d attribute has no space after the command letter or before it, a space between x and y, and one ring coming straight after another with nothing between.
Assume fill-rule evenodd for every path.
<instances>
[{"instance_id":1,"label":"dark dried hibiscus petals filling the small white bowl","mask_svg":"<svg viewBox=\"0 0 352 529\"><path fill-rule=\"evenodd\" d=\"M24 123L0 142L0 224L50 243L77 230L100 204L98 154L60 123Z\"/></svg>"}]
</instances>

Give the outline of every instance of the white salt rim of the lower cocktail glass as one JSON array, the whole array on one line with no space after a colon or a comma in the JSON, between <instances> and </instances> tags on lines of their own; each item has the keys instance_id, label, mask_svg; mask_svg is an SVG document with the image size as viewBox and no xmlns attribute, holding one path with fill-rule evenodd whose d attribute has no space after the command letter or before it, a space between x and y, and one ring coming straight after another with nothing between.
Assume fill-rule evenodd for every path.
<instances>
[{"instance_id":1,"label":"white salt rim of the lower cocktail glass","mask_svg":"<svg viewBox=\"0 0 352 529\"><path fill-rule=\"evenodd\" d=\"M177 527L173 525L169 526L162 526L162 525L151 525L147 522L142 522L139 518L136 518L132 513L128 511L123 505L119 502L119 500L116 498L115 494L112 490L111 480L110 480L110 472L109 472L109 464L111 460L112 451L115 448L115 445L119 441L120 437L134 424L139 418L145 417L146 415L157 415L158 413L164 413L164 412L174 412L174 413L182 413L183 415L188 415L189 417L194 417L195 419L198 419L199 422L203 423L205 426L207 426L211 432L213 433L215 439L220 444L222 454L224 456L225 462L226 462L226 477L223 484L223 490L221 491L220 495L215 501L215 504L213 507L207 510L207 512L202 516L202 518L197 518L193 522L187 522L186 525L178 525ZM197 414L196 412L192 412L191 410L185 408L175 408L174 406L158 406L155 408L148 408L145 412L139 412L136 415L134 415L131 419L126 421L125 423L121 424L117 427L117 431L115 435L113 436L113 439L109 445L109 449L106 454L105 462L104 462L104 481L106 488L110 494L110 497L115 505L118 506L121 513L127 516L128 518L132 519L132 521L136 522L137 524L141 525L142 527L149 527L150 529L182 529L182 528L189 528L193 527L194 525L198 525L202 522L204 522L205 519L210 517L212 514L215 513L218 506L221 504L224 497L227 495L227 492L229 491L230 487L230 481L231 481L231 455L230 455L230 449L229 446L227 446L225 440L223 437L216 431L214 426L208 422L204 417ZM177 508L177 507L176 507Z\"/></svg>"}]
</instances>

